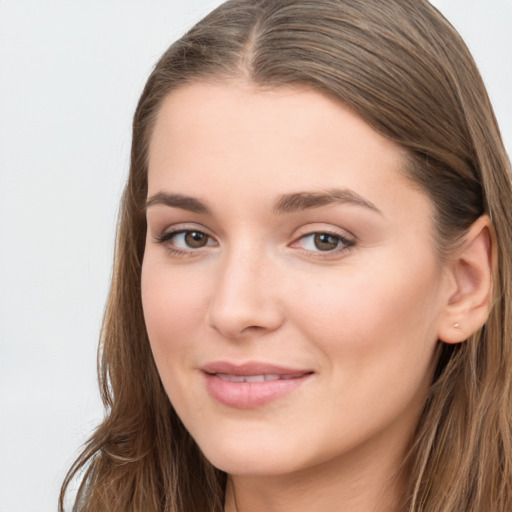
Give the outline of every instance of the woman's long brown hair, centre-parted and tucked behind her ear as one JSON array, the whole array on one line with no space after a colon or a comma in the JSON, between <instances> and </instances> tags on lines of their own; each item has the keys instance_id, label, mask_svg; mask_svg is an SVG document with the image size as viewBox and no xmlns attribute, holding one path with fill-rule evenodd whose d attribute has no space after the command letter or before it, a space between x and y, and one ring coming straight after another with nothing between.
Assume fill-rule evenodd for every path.
<instances>
[{"instance_id":1,"label":"woman's long brown hair, centre-parted and tucked behind her ear","mask_svg":"<svg viewBox=\"0 0 512 512\"><path fill-rule=\"evenodd\" d=\"M486 325L439 363L409 456L409 512L512 510L510 162L468 49L426 0L230 0L157 63L134 121L131 168L99 355L106 416L63 484L74 510L220 512L226 475L175 414L140 297L148 141L162 100L194 81L301 84L342 102L409 155L445 253L483 213L497 238Z\"/></svg>"}]
</instances>

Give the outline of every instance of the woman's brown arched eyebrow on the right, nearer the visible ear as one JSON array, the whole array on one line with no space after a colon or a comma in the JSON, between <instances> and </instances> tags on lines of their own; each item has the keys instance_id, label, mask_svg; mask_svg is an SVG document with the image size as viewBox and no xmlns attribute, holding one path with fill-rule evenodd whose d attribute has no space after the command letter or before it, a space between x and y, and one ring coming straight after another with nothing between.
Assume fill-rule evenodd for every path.
<instances>
[{"instance_id":1,"label":"woman's brown arched eyebrow on the right, nearer the visible ear","mask_svg":"<svg viewBox=\"0 0 512 512\"><path fill-rule=\"evenodd\" d=\"M333 204L353 204L383 213L368 199L349 188L335 188L321 192L296 192L279 196L272 207L274 213L292 213L309 208L320 208Z\"/></svg>"}]
</instances>

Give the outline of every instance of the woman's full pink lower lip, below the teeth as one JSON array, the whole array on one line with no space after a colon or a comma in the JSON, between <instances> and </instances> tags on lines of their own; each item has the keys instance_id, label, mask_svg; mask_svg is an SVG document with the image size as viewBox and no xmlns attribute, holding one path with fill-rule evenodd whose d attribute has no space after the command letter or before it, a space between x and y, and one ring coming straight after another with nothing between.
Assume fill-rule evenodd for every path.
<instances>
[{"instance_id":1,"label":"woman's full pink lower lip, below the teeth","mask_svg":"<svg viewBox=\"0 0 512 512\"><path fill-rule=\"evenodd\" d=\"M263 382L229 382L216 375L205 373L206 388L210 395L228 407L253 409L269 404L292 393L311 374L287 380L269 380Z\"/></svg>"}]
</instances>

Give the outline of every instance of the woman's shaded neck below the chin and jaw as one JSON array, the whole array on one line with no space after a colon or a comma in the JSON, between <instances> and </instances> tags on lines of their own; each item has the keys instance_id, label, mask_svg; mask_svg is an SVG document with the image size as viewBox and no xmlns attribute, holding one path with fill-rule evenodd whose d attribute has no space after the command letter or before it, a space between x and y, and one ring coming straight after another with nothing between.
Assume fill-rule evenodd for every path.
<instances>
[{"instance_id":1,"label":"woman's shaded neck below the chin and jaw","mask_svg":"<svg viewBox=\"0 0 512 512\"><path fill-rule=\"evenodd\" d=\"M229 477L225 512L397 512L404 486L403 457L376 463L369 447L285 476Z\"/></svg>"}]
</instances>

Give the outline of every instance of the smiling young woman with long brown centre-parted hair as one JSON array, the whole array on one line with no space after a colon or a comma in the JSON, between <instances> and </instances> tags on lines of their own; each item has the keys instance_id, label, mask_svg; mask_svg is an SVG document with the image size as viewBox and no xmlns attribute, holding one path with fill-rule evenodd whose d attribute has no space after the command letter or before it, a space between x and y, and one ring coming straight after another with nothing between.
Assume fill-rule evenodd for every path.
<instances>
[{"instance_id":1,"label":"smiling young woman with long brown centre-parted hair","mask_svg":"<svg viewBox=\"0 0 512 512\"><path fill-rule=\"evenodd\" d=\"M135 114L61 509L510 510L511 200L426 1L223 4Z\"/></svg>"}]
</instances>

